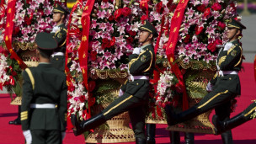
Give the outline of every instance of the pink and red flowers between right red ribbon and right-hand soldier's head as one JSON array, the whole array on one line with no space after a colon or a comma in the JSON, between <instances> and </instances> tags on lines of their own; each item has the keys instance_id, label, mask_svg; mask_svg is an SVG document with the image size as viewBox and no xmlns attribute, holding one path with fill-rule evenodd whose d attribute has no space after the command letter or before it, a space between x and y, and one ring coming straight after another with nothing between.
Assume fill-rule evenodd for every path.
<instances>
[{"instance_id":1,"label":"pink and red flowers between right red ribbon and right-hand soldier's head","mask_svg":"<svg viewBox=\"0 0 256 144\"><path fill-rule=\"evenodd\" d=\"M216 60L216 45L227 41L225 27L228 19L237 13L237 3L224 0L189 1L179 29L176 59L189 61Z\"/></svg>"}]
</instances>

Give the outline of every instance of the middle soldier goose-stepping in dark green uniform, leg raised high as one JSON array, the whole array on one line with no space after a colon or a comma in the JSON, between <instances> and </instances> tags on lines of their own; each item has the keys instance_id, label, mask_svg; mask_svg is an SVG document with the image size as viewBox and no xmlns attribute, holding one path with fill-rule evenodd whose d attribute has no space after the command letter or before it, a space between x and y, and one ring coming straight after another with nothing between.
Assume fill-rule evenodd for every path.
<instances>
[{"instance_id":1,"label":"middle soldier goose-stepping in dark green uniform, leg raised high","mask_svg":"<svg viewBox=\"0 0 256 144\"><path fill-rule=\"evenodd\" d=\"M73 132L75 136L89 131L99 125L104 124L106 120L115 115L120 115L129 111L131 125L136 136L137 144L145 144L145 117L147 113L148 95L149 95L149 77L155 65L155 55L152 46L153 37L157 37L157 30L154 26L145 21L145 24L139 28L140 48L135 48L133 54L129 56L129 71L131 77L129 82L121 87L123 94L99 115L95 115L88 120L77 122L76 115L71 116L72 125L75 126Z\"/></svg>"}]
</instances>

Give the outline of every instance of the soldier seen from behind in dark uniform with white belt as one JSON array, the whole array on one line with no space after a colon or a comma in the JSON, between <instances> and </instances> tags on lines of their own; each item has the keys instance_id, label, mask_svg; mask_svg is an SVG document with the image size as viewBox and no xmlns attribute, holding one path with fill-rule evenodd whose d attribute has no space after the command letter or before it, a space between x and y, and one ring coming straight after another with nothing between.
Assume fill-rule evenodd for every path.
<instances>
[{"instance_id":1,"label":"soldier seen from behind in dark uniform with white belt","mask_svg":"<svg viewBox=\"0 0 256 144\"><path fill-rule=\"evenodd\" d=\"M40 33L35 43L40 64L23 72L22 130L27 144L60 144L66 135L66 75L50 63L56 40L48 33Z\"/></svg>"}]
</instances>

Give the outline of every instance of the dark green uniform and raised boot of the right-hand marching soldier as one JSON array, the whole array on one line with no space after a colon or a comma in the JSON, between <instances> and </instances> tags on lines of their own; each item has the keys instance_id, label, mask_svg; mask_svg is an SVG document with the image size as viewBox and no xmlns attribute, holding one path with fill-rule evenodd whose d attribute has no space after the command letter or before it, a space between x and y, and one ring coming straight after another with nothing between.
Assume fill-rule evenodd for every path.
<instances>
[{"instance_id":1,"label":"dark green uniform and raised boot of the right-hand marching soldier","mask_svg":"<svg viewBox=\"0 0 256 144\"><path fill-rule=\"evenodd\" d=\"M185 110L178 115L173 114L171 108L167 108L168 124L190 120L197 115L201 115L210 109L216 108L216 115L220 115L223 120L229 119L231 112L231 100L241 93L240 80L237 74L241 70L243 61L243 50L238 40L232 41L232 47L228 51L221 49L217 58L219 71L211 80L213 90L206 94L199 104ZM173 116L173 117L172 117Z\"/></svg>"}]
</instances>

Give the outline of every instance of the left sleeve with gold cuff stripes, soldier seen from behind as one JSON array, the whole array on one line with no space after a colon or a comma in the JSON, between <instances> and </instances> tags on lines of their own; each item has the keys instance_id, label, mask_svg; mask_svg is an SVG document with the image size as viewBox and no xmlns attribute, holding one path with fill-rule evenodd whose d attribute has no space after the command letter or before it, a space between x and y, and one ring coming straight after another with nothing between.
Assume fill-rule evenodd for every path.
<instances>
[{"instance_id":1,"label":"left sleeve with gold cuff stripes, soldier seen from behind","mask_svg":"<svg viewBox=\"0 0 256 144\"><path fill-rule=\"evenodd\" d=\"M21 113L20 113L20 120L22 125L22 130L29 130L29 110L30 104L33 98L33 88L32 83L29 79L29 75L27 72L23 72L23 93L22 93L22 104L21 104Z\"/></svg>"}]
</instances>

